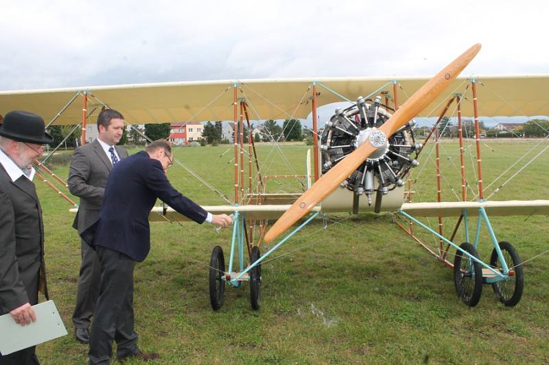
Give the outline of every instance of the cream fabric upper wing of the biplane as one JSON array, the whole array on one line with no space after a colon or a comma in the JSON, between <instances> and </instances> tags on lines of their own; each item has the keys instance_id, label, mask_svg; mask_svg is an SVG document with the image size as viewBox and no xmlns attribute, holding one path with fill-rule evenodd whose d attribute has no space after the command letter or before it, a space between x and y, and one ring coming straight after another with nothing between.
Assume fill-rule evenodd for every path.
<instances>
[{"instance_id":1,"label":"cream fabric upper wing of the biplane","mask_svg":"<svg viewBox=\"0 0 549 365\"><path fill-rule=\"evenodd\" d=\"M467 79L458 77L423 110L432 114L449 95L463 92ZM549 115L549 75L474 76L480 82L478 100L482 116ZM316 82L318 105L355 100L359 95L393 92L399 85L399 103L430 77L347 77L318 79L242 79L119 86L86 86L50 90L0 92L0 114L10 110L30 110L54 124L77 124L82 119L82 98L89 92L88 110L106 103L124 114L132 124L229 121L233 120L233 87L237 96L250 105L252 119L307 118L311 112L311 85ZM331 91L330 91L331 90ZM337 95L338 94L338 95ZM76 97L75 97L76 96ZM72 103L69 103L71 99ZM67 105L69 103L69 105ZM473 115L472 103L462 103L463 115ZM60 114L65 106L67 108Z\"/></svg>"}]
</instances>

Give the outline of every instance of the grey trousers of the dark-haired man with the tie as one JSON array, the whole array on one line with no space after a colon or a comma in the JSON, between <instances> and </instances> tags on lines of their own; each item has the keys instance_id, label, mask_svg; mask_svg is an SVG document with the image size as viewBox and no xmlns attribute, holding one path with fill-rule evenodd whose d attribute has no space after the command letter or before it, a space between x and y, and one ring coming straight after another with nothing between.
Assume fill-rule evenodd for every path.
<instances>
[{"instance_id":1,"label":"grey trousers of the dark-haired man with the tie","mask_svg":"<svg viewBox=\"0 0 549 365\"><path fill-rule=\"evenodd\" d=\"M74 328L88 329L95 311L101 285L101 265L95 250L82 240L82 264L73 312Z\"/></svg>"}]
</instances>

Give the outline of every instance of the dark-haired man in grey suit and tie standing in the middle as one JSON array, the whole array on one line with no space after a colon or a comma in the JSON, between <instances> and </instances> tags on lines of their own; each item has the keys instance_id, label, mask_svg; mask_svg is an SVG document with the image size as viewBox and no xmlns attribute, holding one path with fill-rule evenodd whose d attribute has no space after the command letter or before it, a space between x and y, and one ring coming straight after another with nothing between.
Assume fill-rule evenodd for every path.
<instances>
[{"instance_id":1,"label":"dark-haired man in grey suit and tie standing in the middle","mask_svg":"<svg viewBox=\"0 0 549 365\"><path fill-rule=\"evenodd\" d=\"M110 169L128 152L116 147L124 131L124 116L113 109L103 110L97 116L99 136L89 144L75 149L69 170L70 192L80 197L80 207L73 227L78 234L97 221ZM101 284L100 262L97 254L81 241L82 264L73 313L75 338L89 342L89 326L99 297Z\"/></svg>"}]
</instances>

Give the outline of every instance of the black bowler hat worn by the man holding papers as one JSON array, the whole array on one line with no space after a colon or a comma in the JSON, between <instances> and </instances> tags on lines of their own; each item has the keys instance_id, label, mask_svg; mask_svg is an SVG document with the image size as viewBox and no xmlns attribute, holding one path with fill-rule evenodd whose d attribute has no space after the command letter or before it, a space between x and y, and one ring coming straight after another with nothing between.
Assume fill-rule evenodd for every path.
<instances>
[{"instance_id":1,"label":"black bowler hat worn by the man holding papers","mask_svg":"<svg viewBox=\"0 0 549 365\"><path fill-rule=\"evenodd\" d=\"M54 138L45 131L44 119L38 114L14 110L5 114L0 125L0 136L19 142L45 144Z\"/></svg>"}]
</instances>

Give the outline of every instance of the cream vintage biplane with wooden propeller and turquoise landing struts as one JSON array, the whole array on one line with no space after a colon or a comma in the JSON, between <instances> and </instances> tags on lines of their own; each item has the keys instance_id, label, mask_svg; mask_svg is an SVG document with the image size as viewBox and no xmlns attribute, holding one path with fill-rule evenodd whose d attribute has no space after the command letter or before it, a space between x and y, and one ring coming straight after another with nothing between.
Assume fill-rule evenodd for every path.
<instances>
[{"instance_id":1,"label":"cream vintage biplane with wooden propeller and turquoise landing struts","mask_svg":"<svg viewBox=\"0 0 549 365\"><path fill-rule=\"evenodd\" d=\"M257 310L261 298L261 262L314 218L321 218L327 212L390 212L398 227L453 270L456 293L466 305L476 305L482 287L489 284L504 305L513 306L519 303L524 288L522 260L511 243L498 240L489 216L546 215L549 201L492 201L484 197L479 115L549 115L549 88L546 87L549 76L460 77L479 50L480 45L474 45L432 78L225 80L0 92L0 111L32 110L49 120L48 127L75 125L75 129L82 128L83 141L91 116L108 107L121 111L130 125L232 121L233 199L200 180L225 202L204 208L213 214L233 214L235 222L228 265L222 247L214 247L211 253L208 270L213 310L222 306L226 285L237 288L245 282L250 286L251 305ZM485 87L487 85L490 87ZM401 100L404 103L400 103ZM318 108L332 103L340 106L320 131ZM460 143L459 201L441 198L438 127L451 109L457 114ZM312 162L307 154L305 173L292 175L305 179L305 191L268 192L267 180L283 177L264 175L261 171L251 121L307 118L311 114ZM476 192L465 182L462 115L474 117ZM417 116L436 116L428 136L421 140L414 132ZM247 147L244 144L246 130ZM416 203L412 201L410 174L421 163L425 144L431 141L436 151L437 199ZM46 168L43 163L38 167ZM468 190L474 192L473 201L467 198ZM65 194L62 196L74 204ZM444 216L458 217L451 236L443 235L441 218ZM421 217L438 217L438 229L425 224ZM474 217L477 218L476 235L472 238L469 225ZM185 219L167 206L154 207L150 214L151 221ZM273 220L276 222L271 226ZM464 243L457 244L460 225L465 227L465 238ZM482 225L493 245L489 262L480 260L477 252ZM412 226L436 236L439 247L432 249L421 242ZM288 230L289 233L274 243ZM261 245L271 243L261 254ZM449 259L450 249L455 250L453 261Z\"/></svg>"}]
</instances>

